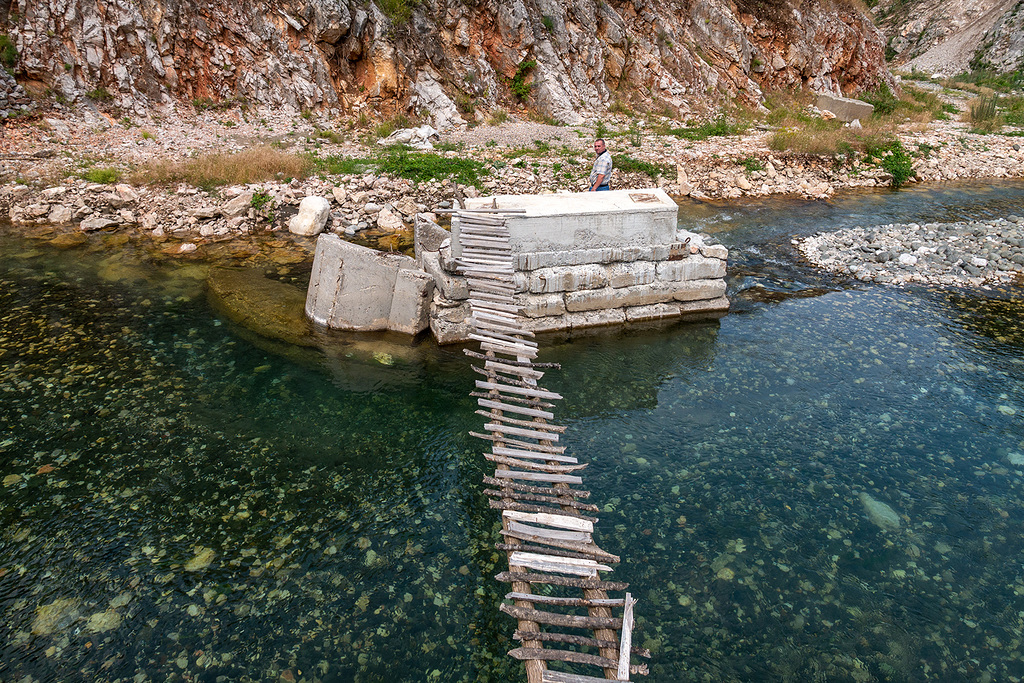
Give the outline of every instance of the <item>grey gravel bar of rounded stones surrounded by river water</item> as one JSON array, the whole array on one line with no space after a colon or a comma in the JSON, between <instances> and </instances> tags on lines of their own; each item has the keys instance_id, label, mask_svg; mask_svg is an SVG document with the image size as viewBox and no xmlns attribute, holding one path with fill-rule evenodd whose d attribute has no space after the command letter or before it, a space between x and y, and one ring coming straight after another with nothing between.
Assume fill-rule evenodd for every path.
<instances>
[{"instance_id":1,"label":"grey gravel bar of rounded stones surrounded by river water","mask_svg":"<svg viewBox=\"0 0 1024 683\"><path fill-rule=\"evenodd\" d=\"M866 282L979 286L1024 273L1020 216L853 227L794 244L814 265Z\"/></svg>"}]
</instances>

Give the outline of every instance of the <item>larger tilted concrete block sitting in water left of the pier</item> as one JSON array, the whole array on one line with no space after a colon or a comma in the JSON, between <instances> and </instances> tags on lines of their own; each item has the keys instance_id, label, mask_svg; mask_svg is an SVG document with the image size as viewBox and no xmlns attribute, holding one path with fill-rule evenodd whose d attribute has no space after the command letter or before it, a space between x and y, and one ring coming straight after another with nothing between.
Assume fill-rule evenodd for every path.
<instances>
[{"instance_id":1,"label":"larger tilted concrete block sitting in water left of the pier","mask_svg":"<svg viewBox=\"0 0 1024 683\"><path fill-rule=\"evenodd\" d=\"M398 271L415 267L408 256L322 234L306 291L306 315L339 330L387 330Z\"/></svg>"}]
</instances>

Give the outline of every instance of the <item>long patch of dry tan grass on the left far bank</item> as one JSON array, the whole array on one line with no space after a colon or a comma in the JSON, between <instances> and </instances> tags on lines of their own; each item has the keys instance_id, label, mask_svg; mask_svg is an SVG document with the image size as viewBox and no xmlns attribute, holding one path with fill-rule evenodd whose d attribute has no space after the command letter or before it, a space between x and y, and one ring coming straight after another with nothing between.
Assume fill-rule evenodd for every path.
<instances>
[{"instance_id":1,"label":"long patch of dry tan grass on the left far bank","mask_svg":"<svg viewBox=\"0 0 1024 683\"><path fill-rule=\"evenodd\" d=\"M211 188L243 185L276 178L304 178L312 171L311 159L258 146L237 154L219 154L183 161L158 161L132 175L135 184L187 183Z\"/></svg>"}]
</instances>

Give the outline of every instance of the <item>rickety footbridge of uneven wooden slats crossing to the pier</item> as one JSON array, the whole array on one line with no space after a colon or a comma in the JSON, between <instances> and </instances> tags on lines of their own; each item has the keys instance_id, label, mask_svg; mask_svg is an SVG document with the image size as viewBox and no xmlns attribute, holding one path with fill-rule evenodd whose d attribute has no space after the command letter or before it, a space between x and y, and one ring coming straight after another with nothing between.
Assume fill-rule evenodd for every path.
<instances>
[{"instance_id":1,"label":"rickety footbridge of uneven wooden slats crossing to the pier","mask_svg":"<svg viewBox=\"0 0 1024 683\"><path fill-rule=\"evenodd\" d=\"M503 539L496 547L508 554L508 571L496 577L511 588L501 610L517 620L513 638L521 642L509 654L524 663L528 683L628 681L647 673L646 665L631 664L631 654L650 652L632 645L631 594L608 595L629 585L602 579L618 557L594 542L598 507L586 502L590 492L578 487L583 478L575 474L587 464L565 455L559 445L565 427L550 422L550 401L561 396L540 381L558 366L535 360L534 333L518 319L508 213L517 212L458 211L457 264L470 290L470 339L480 344L479 351L465 352L483 361L473 367L483 379L471 395L485 409L476 412L486 424L471 434L490 443L484 457L496 469L483 479L484 493L501 510ZM586 614L578 613L582 609ZM603 678L552 671L550 661L596 667Z\"/></svg>"}]
</instances>

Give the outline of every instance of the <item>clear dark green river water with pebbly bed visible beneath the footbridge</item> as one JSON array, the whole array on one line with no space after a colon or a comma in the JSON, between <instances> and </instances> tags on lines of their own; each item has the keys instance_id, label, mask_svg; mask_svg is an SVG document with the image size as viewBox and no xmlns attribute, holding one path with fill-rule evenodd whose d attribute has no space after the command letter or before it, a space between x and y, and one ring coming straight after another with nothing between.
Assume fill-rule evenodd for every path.
<instances>
[{"instance_id":1,"label":"clear dark green river water with pebbly bed visible beneath the footbridge","mask_svg":"<svg viewBox=\"0 0 1024 683\"><path fill-rule=\"evenodd\" d=\"M825 208L868 201L937 200ZM845 289L786 260L809 206L684 207L729 214L737 312L540 358L647 680L1020 678L1021 292ZM290 349L120 265L0 238L0 681L521 679L461 351Z\"/></svg>"}]
</instances>

